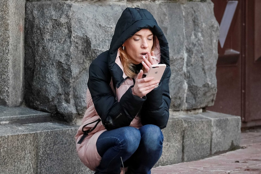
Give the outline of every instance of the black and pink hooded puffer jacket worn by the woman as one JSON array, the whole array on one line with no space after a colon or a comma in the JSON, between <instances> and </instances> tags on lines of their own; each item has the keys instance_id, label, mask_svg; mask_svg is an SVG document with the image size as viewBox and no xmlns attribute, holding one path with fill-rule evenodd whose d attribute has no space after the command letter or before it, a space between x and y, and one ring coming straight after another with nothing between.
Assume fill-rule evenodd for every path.
<instances>
[{"instance_id":1,"label":"black and pink hooded puffer jacket worn by the woman","mask_svg":"<svg viewBox=\"0 0 261 174\"><path fill-rule=\"evenodd\" d=\"M135 80L124 73L118 49L142 28L149 28L156 35L155 57L159 64L166 64L166 69L159 86L140 98L132 94ZM156 20L146 9L126 8L115 27L110 49L89 68L87 110L75 136L78 156L88 168L95 171L100 163L96 141L105 130L146 124L166 127L170 75L168 43Z\"/></svg>"}]
</instances>

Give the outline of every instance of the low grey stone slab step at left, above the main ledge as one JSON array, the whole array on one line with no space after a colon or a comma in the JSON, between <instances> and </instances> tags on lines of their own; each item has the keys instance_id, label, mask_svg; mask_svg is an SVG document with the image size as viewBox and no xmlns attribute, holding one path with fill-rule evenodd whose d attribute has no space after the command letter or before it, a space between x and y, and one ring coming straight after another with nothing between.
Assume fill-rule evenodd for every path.
<instances>
[{"instance_id":1,"label":"low grey stone slab step at left, above the main ledge","mask_svg":"<svg viewBox=\"0 0 261 174\"><path fill-rule=\"evenodd\" d=\"M51 113L33 110L28 107L0 106L0 125L8 123L35 123L51 120Z\"/></svg>"}]
</instances>

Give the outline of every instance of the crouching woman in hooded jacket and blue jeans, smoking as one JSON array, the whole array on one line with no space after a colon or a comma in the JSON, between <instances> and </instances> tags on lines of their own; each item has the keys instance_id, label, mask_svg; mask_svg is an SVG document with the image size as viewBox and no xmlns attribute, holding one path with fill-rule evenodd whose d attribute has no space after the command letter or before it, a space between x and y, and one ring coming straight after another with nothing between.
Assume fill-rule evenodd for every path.
<instances>
[{"instance_id":1,"label":"crouching woman in hooded jacket and blue jeans, smoking","mask_svg":"<svg viewBox=\"0 0 261 174\"><path fill-rule=\"evenodd\" d=\"M151 64L167 65L160 81L145 77ZM169 81L168 43L156 20L126 8L110 49L89 68L87 110L75 136L81 161L96 174L119 174L123 166L150 173L162 153Z\"/></svg>"}]
</instances>

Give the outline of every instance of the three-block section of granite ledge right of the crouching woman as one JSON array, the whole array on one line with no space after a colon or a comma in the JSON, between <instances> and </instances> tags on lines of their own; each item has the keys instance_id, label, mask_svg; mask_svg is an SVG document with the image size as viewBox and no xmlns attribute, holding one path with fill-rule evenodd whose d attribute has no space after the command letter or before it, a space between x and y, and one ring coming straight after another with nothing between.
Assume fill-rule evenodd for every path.
<instances>
[{"instance_id":1,"label":"three-block section of granite ledge right of the crouching woman","mask_svg":"<svg viewBox=\"0 0 261 174\"><path fill-rule=\"evenodd\" d=\"M171 113L171 112L170 112ZM163 152L155 166L200 159L239 148L241 119L206 111L170 115L164 135Z\"/></svg>"}]
</instances>

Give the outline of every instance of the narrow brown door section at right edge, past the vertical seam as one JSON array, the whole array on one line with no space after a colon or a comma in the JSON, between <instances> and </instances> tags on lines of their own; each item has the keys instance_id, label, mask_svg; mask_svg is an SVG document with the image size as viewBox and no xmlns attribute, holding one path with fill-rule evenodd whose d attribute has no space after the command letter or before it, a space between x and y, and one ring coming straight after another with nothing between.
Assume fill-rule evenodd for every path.
<instances>
[{"instance_id":1,"label":"narrow brown door section at right edge, past the vertical seam","mask_svg":"<svg viewBox=\"0 0 261 174\"><path fill-rule=\"evenodd\" d=\"M245 104L243 126L261 125L261 1L246 1Z\"/></svg>"}]
</instances>

